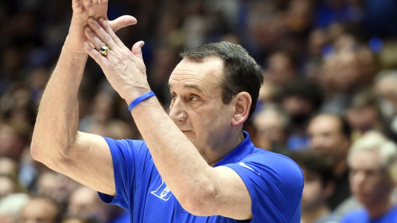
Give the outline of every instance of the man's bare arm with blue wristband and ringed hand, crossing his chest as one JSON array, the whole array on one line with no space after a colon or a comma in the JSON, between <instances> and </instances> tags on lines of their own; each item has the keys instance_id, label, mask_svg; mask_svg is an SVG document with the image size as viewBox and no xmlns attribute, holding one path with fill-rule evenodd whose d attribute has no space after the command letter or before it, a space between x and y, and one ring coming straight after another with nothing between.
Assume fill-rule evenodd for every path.
<instances>
[{"instance_id":1,"label":"man's bare arm with blue wristband and ringed hand, crossing his chest","mask_svg":"<svg viewBox=\"0 0 397 223\"><path fill-rule=\"evenodd\" d=\"M99 21L89 22L91 28L86 35L97 49L106 44L111 51L104 57L88 44L85 49L102 67L113 88L129 103L150 90L142 59L143 42L136 43L129 51L108 23ZM244 105L245 119L249 105L250 101ZM251 198L238 174L227 167L209 166L155 97L138 104L132 115L162 178L186 210L196 215L252 217ZM243 121L239 122L242 125Z\"/></svg>"}]
</instances>

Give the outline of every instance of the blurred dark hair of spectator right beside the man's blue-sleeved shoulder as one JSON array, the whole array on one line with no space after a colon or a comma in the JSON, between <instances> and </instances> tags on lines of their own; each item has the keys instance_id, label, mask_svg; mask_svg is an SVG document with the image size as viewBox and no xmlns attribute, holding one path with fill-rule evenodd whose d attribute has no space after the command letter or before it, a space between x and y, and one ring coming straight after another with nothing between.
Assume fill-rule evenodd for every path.
<instances>
[{"instance_id":1,"label":"blurred dark hair of spectator right beside the man's blue-sleeved shoulder","mask_svg":"<svg viewBox=\"0 0 397 223\"><path fill-rule=\"evenodd\" d=\"M294 151L288 156L294 160L300 168L304 168L318 175L321 178L323 186L329 181L335 180L333 161L325 154L312 149L303 149Z\"/></svg>"}]
</instances>

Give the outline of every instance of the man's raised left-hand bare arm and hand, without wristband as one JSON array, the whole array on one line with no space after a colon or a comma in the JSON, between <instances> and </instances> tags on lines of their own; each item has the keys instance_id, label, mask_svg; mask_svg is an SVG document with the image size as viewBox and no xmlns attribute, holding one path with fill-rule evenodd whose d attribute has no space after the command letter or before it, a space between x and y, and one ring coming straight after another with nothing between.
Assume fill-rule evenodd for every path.
<instances>
[{"instance_id":1,"label":"man's raised left-hand bare arm and hand, without wristband","mask_svg":"<svg viewBox=\"0 0 397 223\"><path fill-rule=\"evenodd\" d=\"M40 102L33 132L34 159L95 190L114 194L109 148L100 136L78 132L78 90L87 61L83 43L88 17L106 17L107 0L73 0L69 35ZM120 17L113 30L135 24L133 17Z\"/></svg>"}]
</instances>

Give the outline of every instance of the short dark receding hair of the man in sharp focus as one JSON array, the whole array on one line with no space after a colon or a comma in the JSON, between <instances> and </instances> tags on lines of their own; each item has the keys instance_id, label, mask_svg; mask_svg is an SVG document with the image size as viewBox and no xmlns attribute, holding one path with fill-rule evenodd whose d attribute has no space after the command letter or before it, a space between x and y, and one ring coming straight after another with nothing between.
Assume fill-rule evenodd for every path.
<instances>
[{"instance_id":1,"label":"short dark receding hair of the man in sharp focus","mask_svg":"<svg viewBox=\"0 0 397 223\"><path fill-rule=\"evenodd\" d=\"M228 104L239 92L245 91L251 95L252 104L247 119L249 120L255 111L259 89L263 83L261 67L240 45L226 41L205 44L180 53L182 59L201 60L210 56L218 56L223 60L224 72L219 84L222 87L224 104Z\"/></svg>"}]
</instances>

